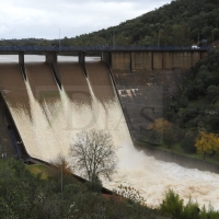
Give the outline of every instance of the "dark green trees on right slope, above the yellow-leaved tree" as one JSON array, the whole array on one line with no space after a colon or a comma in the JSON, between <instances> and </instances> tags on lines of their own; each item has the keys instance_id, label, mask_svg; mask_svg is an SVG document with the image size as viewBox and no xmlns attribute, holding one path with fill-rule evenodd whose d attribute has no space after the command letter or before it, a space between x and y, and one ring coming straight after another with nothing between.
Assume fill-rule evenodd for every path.
<instances>
[{"instance_id":1,"label":"dark green trees on right slope, above the yellow-leaved tree","mask_svg":"<svg viewBox=\"0 0 219 219\"><path fill-rule=\"evenodd\" d=\"M166 117L184 128L205 126L206 130L218 130L218 99L219 50L215 49L193 69L192 78L182 95L171 103Z\"/></svg>"}]
</instances>

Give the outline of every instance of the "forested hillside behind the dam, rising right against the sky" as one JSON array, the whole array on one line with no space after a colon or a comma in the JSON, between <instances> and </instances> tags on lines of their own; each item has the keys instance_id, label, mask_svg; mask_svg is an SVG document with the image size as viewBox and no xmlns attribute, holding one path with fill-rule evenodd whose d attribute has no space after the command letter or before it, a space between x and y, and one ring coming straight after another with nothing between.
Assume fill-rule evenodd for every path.
<instances>
[{"instance_id":1,"label":"forested hillside behind the dam, rising right against the sky","mask_svg":"<svg viewBox=\"0 0 219 219\"><path fill-rule=\"evenodd\" d=\"M62 38L62 46L141 45L191 46L193 43L212 45L219 38L218 0L174 0L139 18L117 26ZM203 42L203 39L207 39ZM0 41L0 45L55 45L46 39Z\"/></svg>"}]
</instances>

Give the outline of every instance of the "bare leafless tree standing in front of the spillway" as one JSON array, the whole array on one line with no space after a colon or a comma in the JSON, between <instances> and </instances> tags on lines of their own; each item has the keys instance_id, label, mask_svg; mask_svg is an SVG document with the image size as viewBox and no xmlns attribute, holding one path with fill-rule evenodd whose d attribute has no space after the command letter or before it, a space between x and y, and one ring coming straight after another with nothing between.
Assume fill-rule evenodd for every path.
<instances>
[{"instance_id":1,"label":"bare leafless tree standing in front of the spillway","mask_svg":"<svg viewBox=\"0 0 219 219\"><path fill-rule=\"evenodd\" d=\"M77 135L70 148L74 166L85 174L89 181L96 176L107 178L115 172L117 158L111 134L92 129Z\"/></svg>"}]
</instances>

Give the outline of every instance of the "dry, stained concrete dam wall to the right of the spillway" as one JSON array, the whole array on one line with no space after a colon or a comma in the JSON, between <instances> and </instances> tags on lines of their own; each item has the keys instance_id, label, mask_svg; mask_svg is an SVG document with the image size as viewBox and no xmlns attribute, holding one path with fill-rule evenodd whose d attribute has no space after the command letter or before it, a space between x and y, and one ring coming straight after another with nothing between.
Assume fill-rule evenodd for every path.
<instances>
[{"instance_id":1,"label":"dry, stained concrete dam wall to the right of the spillway","mask_svg":"<svg viewBox=\"0 0 219 219\"><path fill-rule=\"evenodd\" d=\"M151 124L178 95L186 78L206 51L113 51L108 65L131 138L157 141Z\"/></svg>"}]
</instances>

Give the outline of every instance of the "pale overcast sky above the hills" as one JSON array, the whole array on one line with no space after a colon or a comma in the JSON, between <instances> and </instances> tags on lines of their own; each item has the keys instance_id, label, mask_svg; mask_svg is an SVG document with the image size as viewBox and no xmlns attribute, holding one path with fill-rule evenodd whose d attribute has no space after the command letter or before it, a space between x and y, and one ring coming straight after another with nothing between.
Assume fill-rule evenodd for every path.
<instances>
[{"instance_id":1,"label":"pale overcast sky above the hills","mask_svg":"<svg viewBox=\"0 0 219 219\"><path fill-rule=\"evenodd\" d=\"M118 25L172 0L0 0L0 38L74 37Z\"/></svg>"}]
</instances>

